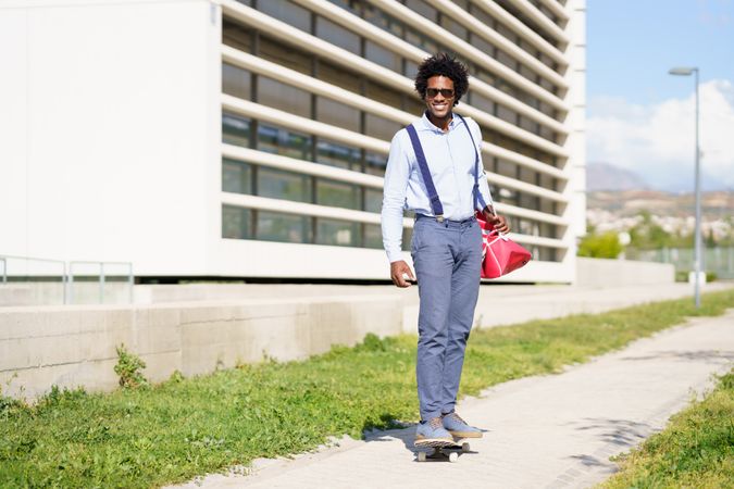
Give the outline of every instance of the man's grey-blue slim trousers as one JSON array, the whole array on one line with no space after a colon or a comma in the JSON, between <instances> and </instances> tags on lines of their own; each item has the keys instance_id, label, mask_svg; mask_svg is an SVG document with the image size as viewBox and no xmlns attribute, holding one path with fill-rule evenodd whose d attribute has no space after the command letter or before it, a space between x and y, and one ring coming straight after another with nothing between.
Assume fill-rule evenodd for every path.
<instances>
[{"instance_id":1,"label":"man's grey-blue slim trousers","mask_svg":"<svg viewBox=\"0 0 734 489\"><path fill-rule=\"evenodd\" d=\"M420 216L411 254L418 278L418 398L421 419L450 413L480 293L482 231L476 220Z\"/></svg>"}]
</instances>

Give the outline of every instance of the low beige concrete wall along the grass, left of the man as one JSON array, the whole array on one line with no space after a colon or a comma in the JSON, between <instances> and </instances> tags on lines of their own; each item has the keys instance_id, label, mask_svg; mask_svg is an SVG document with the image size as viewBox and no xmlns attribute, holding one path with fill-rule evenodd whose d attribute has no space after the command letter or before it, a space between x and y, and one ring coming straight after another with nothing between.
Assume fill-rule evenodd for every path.
<instances>
[{"instance_id":1,"label":"low beige concrete wall along the grass, left of the man","mask_svg":"<svg viewBox=\"0 0 734 489\"><path fill-rule=\"evenodd\" d=\"M51 386L112 390L115 347L148 365L146 377L207 374L238 363L306 359L368 333L402 330L399 297L331 297L148 306L0 309L3 394L35 398Z\"/></svg>"}]
</instances>

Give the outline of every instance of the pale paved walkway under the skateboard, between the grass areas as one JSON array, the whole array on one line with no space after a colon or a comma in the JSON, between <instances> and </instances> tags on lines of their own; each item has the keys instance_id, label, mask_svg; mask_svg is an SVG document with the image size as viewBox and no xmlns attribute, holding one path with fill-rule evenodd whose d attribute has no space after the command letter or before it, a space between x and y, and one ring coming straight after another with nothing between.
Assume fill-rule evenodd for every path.
<instances>
[{"instance_id":1,"label":"pale paved walkway under the skateboard, between the grass areas","mask_svg":"<svg viewBox=\"0 0 734 489\"><path fill-rule=\"evenodd\" d=\"M465 400L459 412L488 431L455 464L416 462L408 428L347 438L295 460L257 461L253 475L209 476L186 487L589 487L614 471L611 455L661 429L733 362L734 310Z\"/></svg>"}]
</instances>

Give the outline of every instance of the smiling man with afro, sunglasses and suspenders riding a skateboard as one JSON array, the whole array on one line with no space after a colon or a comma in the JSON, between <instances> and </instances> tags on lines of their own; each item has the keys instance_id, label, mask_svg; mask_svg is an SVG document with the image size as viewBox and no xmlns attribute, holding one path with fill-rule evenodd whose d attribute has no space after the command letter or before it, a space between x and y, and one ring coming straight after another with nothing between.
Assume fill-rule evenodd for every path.
<instances>
[{"instance_id":1,"label":"smiling man with afro, sunglasses and suspenders riding a skateboard","mask_svg":"<svg viewBox=\"0 0 734 489\"><path fill-rule=\"evenodd\" d=\"M405 288L418 276L416 446L482 437L455 411L480 290L482 233L474 213L482 211L500 233L510 228L493 212L478 156L480 127L452 112L468 88L466 67L452 57L439 53L423 61L415 90L426 111L395 135L385 172L382 233L390 277ZM415 212L415 275L400 255L405 209Z\"/></svg>"}]
</instances>

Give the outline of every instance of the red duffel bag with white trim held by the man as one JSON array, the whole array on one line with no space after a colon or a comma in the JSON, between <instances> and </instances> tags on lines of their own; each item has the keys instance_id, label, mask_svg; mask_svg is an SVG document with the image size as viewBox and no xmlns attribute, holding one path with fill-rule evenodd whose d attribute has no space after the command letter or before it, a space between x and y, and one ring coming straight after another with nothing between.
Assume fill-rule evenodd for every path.
<instances>
[{"instance_id":1,"label":"red duffel bag with white trim held by the man","mask_svg":"<svg viewBox=\"0 0 734 489\"><path fill-rule=\"evenodd\" d=\"M495 230L495 226L476 213L482 229L482 278L497 278L507 275L531 261L531 252Z\"/></svg>"}]
</instances>

